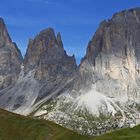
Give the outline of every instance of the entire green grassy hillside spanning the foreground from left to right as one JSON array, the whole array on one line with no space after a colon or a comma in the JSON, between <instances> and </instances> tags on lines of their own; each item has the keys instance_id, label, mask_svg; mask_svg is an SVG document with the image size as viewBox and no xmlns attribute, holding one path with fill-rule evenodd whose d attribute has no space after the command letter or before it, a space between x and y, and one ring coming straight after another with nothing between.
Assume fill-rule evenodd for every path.
<instances>
[{"instance_id":1,"label":"entire green grassy hillside spanning the foreground from left to right","mask_svg":"<svg viewBox=\"0 0 140 140\"><path fill-rule=\"evenodd\" d=\"M99 137L86 137L45 120L0 109L0 140L140 140L140 126Z\"/></svg>"}]
</instances>

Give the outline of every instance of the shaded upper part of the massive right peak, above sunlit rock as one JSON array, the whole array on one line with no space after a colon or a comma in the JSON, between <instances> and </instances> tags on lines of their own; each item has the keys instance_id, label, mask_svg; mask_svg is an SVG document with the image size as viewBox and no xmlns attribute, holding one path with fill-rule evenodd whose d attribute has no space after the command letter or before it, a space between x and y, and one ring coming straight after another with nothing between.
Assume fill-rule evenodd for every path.
<instances>
[{"instance_id":1,"label":"shaded upper part of the massive right peak, above sunlit rock","mask_svg":"<svg viewBox=\"0 0 140 140\"><path fill-rule=\"evenodd\" d=\"M89 42L86 58L94 63L101 52L118 52L129 46L140 44L138 39L140 27L140 8L121 11L109 20L101 22L95 35ZM119 44L117 43L119 42ZM129 43L128 43L129 42ZM130 43L133 42L133 45ZM134 44L135 43L135 44Z\"/></svg>"}]
</instances>

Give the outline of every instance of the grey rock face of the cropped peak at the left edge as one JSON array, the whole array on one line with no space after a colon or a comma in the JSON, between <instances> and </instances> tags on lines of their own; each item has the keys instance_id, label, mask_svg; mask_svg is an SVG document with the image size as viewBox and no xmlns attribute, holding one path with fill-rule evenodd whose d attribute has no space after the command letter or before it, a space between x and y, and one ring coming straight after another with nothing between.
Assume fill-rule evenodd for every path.
<instances>
[{"instance_id":1,"label":"grey rock face of the cropped peak at the left edge","mask_svg":"<svg viewBox=\"0 0 140 140\"><path fill-rule=\"evenodd\" d=\"M20 73L22 55L12 42L3 19L0 18L0 89L15 84Z\"/></svg>"}]
</instances>

